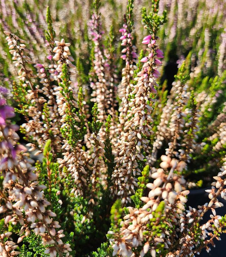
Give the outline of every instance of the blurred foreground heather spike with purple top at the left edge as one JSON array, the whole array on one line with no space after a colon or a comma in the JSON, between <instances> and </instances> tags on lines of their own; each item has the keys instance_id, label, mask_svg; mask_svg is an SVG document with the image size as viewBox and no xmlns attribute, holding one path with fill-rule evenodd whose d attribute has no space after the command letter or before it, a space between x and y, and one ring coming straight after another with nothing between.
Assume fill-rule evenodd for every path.
<instances>
[{"instance_id":1,"label":"blurred foreground heather spike with purple top at the left edge","mask_svg":"<svg viewBox=\"0 0 226 257\"><path fill-rule=\"evenodd\" d=\"M61 233L54 234L55 228L59 228L58 222L50 217L55 217L55 213L47 209L50 203L44 198L43 189L45 186L39 185L35 180L37 175L32 167L33 161L25 154L26 148L17 144L18 135L17 126L12 125L9 118L14 116L12 107L6 104L4 98L1 98L0 105L0 136L1 141L1 159L0 170L3 175L1 182L1 195L4 197L7 208L4 212L13 212L15 220L24 225L24 220L34 229L37 235L40 235L44 245L53 245L50 249L54 250L59 256L63 257L63 242L59 243ZM7 157L4 157L7 156ZM13 182L13 183L12 183ZM9 195L11 195L9 197ZM9 200L10 199L10 200ZM24 212L24 217L23 217ZM21 227L21 234L24 232ZM62 235L62 236L61 236Z\"/></svg>"}]
</instances>

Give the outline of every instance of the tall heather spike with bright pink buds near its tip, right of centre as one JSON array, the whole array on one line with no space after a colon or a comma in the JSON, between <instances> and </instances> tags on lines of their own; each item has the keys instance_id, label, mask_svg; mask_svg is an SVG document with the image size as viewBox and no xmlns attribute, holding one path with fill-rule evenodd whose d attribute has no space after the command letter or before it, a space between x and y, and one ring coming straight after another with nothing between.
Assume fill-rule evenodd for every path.
<instances>
[{"instance_id":1,"label":"tall heather spike with bright pink buds near its tip, right of centre","mask_svg":"<svg viewBox=\"0 0 226 257\"><path fill-rule=\"evenodd\" d=\"M147 19L150 23L150 16ZM155 34L152 35L152 39L156 40ZM151 38L149 40L151 41ZM158 86L156 83L158 72L155 68L157 44L148 44L146 50L148 52L146 63L134 79L137 84L131 92L128 120L125 122L124 133L120 138L119 149L121 151L116 157L116 167L113 172L115 186L112 187L112 193L120 196L123 204L130 202L129 195L134 193L134 186L137 186L136 175L140 174L138 161L144 161L142 151L149 143L147 137L151 135L150 125L153 122L151 112L155 101L153 98L157 92L155 87Z\"/></svg>"}]
</instances>

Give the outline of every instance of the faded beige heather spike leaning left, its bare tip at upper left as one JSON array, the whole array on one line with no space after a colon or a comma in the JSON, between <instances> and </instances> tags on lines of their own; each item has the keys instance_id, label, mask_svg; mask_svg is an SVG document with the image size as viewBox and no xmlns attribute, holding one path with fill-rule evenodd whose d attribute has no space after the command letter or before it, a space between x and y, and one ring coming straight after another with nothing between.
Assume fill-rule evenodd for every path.
<instances>
[{"instance_id":1,"label":"faded beige heather spike leaning left, its bare tip at upper left","mask_svg":"<svg viewBox=\"0 0 226 257\"><path fill-rule=\"evenodd\" d=\"M34 78L36 76L33 74L32 69L27 65L31 64L32 62L30 58L25 55L26 48L24 41L11 33L9 33L7 41L11 49L10 52L13 54L13 60L15 60L14 64L19 67L18 75L20 84L17 85L16 82L13 83L13 95L14 99L18 103L18 107L20 107L20 110L18 109L17 111L23 114L26 120L26 123L22 124L21 126L21 132L25 134L26 139L29 141L28 146L32 146L30 150L33 151L36 148L38 149L36 153L39 154L41 152L40 145L45 143L46 134L48 134L48 132L44 129L44 126L42 126L43 122L40 121L43 105L46 100L43 96L38 95L43 93L43 90L39 89L39 85L34 87ZM39 68L38 66L42 68ZM43 78L43 75L46 76L44 66L41 64L38 64L38 66L37 67L40 71L38 75L39 77ZM45 83L45 85L49 84ZM31 89L27 90L27 87L30 87ZM48 95L50 89L45 87L44 89ZM53 97L53 95L51 97ZM57 132L55 134L57 134ZM37 139L37 141L39 140L39 146L37 143L35 143L34 137ZM56 142L59 142L59 136L57 136L55 140Z\"/></svg>"}]
</instances>

